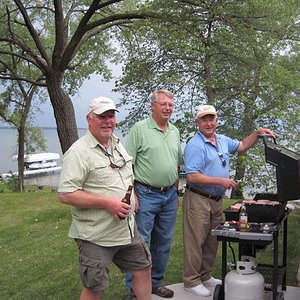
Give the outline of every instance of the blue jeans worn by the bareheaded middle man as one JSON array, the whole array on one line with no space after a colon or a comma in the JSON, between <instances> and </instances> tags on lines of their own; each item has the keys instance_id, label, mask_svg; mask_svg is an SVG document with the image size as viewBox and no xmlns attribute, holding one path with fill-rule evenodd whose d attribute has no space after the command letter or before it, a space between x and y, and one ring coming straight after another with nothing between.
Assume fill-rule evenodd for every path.
<instances>
[{"instance_id":1,"label":"blue jeans worn by the bareheaded middle man","mask_svg":"<svg viewBox=\"0 0 300 300\"><path fill-rule=\"evenodd\" d=\"M176 187L167 192L154 192L149 188L135 184L139 200L139 211L135 216L140 235L150 247L152 256L152 287L163 283L177 215ZM131 289L131 273L126 273L126 285Z\"/></svg>"}]
</instances>

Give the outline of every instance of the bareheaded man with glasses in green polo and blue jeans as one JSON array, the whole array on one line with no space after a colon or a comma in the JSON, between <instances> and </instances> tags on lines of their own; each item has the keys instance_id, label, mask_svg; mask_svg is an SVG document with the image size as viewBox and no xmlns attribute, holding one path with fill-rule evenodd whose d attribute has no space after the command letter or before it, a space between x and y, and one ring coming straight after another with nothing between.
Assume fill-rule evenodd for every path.
<instances>
[{"instance_id":1,"label":"bareheaded man with glasses in green polo and blue jeans","mask_svg":"<svg viewBox=\"0 0 300 300\"><path fill-rule=\"evenodd\" d=\"M179 131L169 122L173 109L172 93L154 91L152 115L132 127L125 145L133 157L138 231L148 244L151 241L152 293L165 298L174 295L163 286L163 279L176 223L178 170L183 162ZM129 288L130 279L126 274Z\"/></svg>"}]
</instances>

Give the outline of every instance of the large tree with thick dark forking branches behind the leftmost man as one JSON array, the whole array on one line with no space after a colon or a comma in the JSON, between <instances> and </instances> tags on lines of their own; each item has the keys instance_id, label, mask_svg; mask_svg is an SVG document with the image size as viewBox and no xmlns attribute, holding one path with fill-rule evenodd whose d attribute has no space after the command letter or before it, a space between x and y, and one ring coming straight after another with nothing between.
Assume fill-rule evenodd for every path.
<instances>
[{"instance_id":1,"label":"large tree with thick dark forking branches behind the leftmost man","mask_svg":"<svg viewBox=\"0 0 300 300\"><path fill-rule=\"evenodd\" d=\"M13 56L40 72L63 153L78 138L70 95L92 73L110 78L106 61L118 59L112 36L134 20L148 18L146 7L123 0L1 3L0 60ZM0 78L30 81L6 71Z\"/></svg>"}]
</instances>

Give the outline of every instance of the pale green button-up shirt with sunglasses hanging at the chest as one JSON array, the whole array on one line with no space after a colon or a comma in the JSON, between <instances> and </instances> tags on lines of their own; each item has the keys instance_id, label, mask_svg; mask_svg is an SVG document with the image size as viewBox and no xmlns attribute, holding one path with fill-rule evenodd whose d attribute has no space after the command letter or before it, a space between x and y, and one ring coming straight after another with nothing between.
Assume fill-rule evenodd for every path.
<instances>
[{"instance_id":1,"label":"pale green button-up shirt with sunglasses hanging at the chest","mask_svg":"<svg viewBox=\"0 0 300 300\"><path fill-rule=\"evenodd\" d=\"M95 195L112 196L121 201L128 186L132 184L132 157L119 143L119 139L113 136L113 153L110 159L122 167L112 168L105 149L101 147L88 131L69 148L63 157L58 192L84 190ZM134 232L133 194L131 203L129 222L127 219L116 222L113 215L105 209L72 206L69 236L106 247L130 244L131 232Z\"/></svg>"}]
</instances>

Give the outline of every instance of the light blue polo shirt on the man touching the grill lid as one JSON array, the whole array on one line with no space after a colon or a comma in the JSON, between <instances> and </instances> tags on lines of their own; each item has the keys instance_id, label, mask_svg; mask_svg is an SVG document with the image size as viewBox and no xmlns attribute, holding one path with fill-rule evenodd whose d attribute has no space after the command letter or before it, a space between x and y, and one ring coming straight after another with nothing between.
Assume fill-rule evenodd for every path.
<instances>
[{"instance_id":1,"label":"light blue polo shirt on the man touching the grill lid","mask_svg":"<svg viewBox=\"0 0 300 300\"><path fill-rule=\"evenodd\" d=\"M212 177L229 178L229 155L237 151L239 141L222 134L215 134L217 146L198 131L184 149L184 165L187 174L201 173ZM226 162L226 164L225 164ZM226 189L221 185L189 184L202 192L220 196Z\"/></svg>"}]
</instances>

